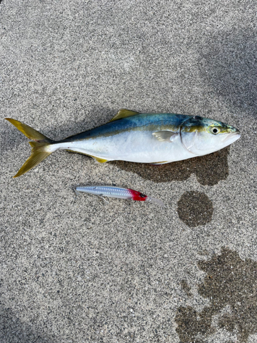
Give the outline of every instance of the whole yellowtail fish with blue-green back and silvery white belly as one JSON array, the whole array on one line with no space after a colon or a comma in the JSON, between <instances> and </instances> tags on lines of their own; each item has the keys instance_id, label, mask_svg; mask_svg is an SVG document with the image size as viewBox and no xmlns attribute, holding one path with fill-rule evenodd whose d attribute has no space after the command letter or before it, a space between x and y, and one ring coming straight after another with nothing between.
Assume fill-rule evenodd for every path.
<instances>
[{"instance_id":1,"label":"whole yellowtail fish with blue-green back and silvery white belly","mask_svg":"<svg viewBox=\"0 0 257 343\"><path fill-rule=\"evenodd\" d=\"M221 121L173 113L119 110L108 123L61 141L52 141L15 119L6 118L32 141L21 176L56 150L86 154L100 163L130 161L161 165L203 156L234 143L240 132Z\"/></svg>"}]
</instances>

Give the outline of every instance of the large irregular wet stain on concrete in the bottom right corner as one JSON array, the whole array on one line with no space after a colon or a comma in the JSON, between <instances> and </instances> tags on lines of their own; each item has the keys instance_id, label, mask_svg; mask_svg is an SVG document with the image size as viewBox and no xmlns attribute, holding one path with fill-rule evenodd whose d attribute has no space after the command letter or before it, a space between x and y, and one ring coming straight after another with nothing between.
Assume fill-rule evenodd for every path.
<instances>
[{"instance_id":1,"label":"large irregular wet stain on concrete in the bottom right corner","mask_svg":"<svg viewBox=\"0 0 257 343\"><path fill-rule=\"evenodd\" d=\"M239 343L257 333L257 262L241 259L237 252L221 249L209 261L199 261L206 272L198 292L210 300L210 306L197 312L193 307L179 307L175 316L180 342L206 342L215 333L212 317L219 316L219 328L236 334ZM221 310L228 307L225 314Z\"/></svg>"}]
</instances>

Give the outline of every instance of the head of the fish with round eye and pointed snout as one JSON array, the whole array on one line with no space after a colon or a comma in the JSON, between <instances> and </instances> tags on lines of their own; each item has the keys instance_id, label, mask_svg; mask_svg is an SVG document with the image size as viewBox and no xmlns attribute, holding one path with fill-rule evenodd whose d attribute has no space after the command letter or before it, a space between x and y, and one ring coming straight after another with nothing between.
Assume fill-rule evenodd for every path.
<instances>
[{"instance_id":1,"label":"head of the fish with round eye and pointed snout","mask_svg":"<svg viewBox=\"0 0 257 343\"><path fill-rule=\"evenodd\" d=\"M186 150L202 156L234 143L241 134L221 121L194 116L182 123L180 137Z\"/></svg>"}]
</instances>

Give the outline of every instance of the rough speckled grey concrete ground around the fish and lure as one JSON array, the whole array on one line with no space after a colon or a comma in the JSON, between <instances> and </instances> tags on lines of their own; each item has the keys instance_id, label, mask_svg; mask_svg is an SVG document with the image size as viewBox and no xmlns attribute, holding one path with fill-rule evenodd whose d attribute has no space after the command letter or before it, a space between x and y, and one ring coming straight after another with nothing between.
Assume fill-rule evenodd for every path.
<instances>
[{"instance_id":1,"label":"rough speckled grey concrete ground around the fish and lure","mask_svg":"<svg viewBox=\"0 0 257 343\"><path fill-rule=\"evenodd\" d=\"M0 3L0 342L257 342L254 0ZM120 108L241 130L161 167L56 152L20 178L26 137ZM167 206L75 198L130 187Z\"/></svg>"}]
</instances>

